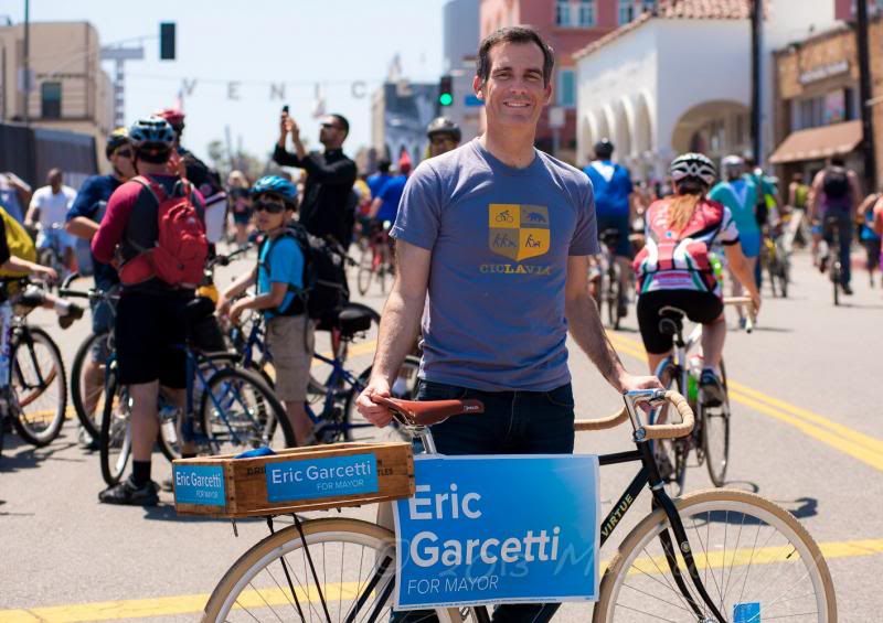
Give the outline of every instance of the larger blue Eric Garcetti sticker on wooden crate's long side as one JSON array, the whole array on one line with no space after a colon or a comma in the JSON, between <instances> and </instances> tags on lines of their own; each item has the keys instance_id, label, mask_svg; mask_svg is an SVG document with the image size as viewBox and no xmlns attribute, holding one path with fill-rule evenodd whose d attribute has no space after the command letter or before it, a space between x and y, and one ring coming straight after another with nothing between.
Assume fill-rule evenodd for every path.
<instances>
[{"instance_id":1,"label":"larger blue Eric Garcetti sticker on wooden crate's long side","mask_svg":"<svg viewBox=\"0 0 883 623\"><path fill-rule=\"evenodd\" d=\"M379 491L377 460L372 453L267 463L266 477L269 502Z\"/></svg>"}]
</instances>

